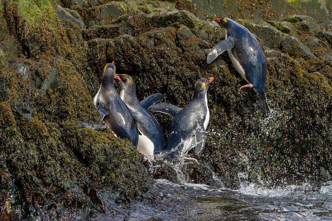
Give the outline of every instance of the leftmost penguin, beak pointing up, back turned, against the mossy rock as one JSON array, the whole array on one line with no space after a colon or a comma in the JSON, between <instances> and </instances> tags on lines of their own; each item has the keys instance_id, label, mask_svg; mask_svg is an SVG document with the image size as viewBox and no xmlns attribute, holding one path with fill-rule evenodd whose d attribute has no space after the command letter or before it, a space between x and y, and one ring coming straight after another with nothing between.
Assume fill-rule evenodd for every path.
<instances>
[{"instance_id":1,"label":"leftmost penguin, beak pointing up, back turned, against the mossy rock","mask_svg":"<svg viewBox=\"0 0 332 221\"><path fill-rule=\"evenodd\" d=\"M115 75L114 61L104 67L102 83L93 99L101 119L111 129L116 137L127 138L137 148L138 129L137 122L131 111L121 100L114 87Z\"/></svg>"}]
</instances>

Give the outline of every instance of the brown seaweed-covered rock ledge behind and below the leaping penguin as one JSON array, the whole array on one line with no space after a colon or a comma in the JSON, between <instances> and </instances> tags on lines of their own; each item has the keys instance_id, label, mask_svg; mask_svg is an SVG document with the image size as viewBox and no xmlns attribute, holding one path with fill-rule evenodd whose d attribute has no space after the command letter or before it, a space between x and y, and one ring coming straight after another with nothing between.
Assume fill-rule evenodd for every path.
<instances>
[{"instance_id":1,"label":"brown seaweed-covered rock ledge behind and below the leaping penguin","mask_svg":"<svg viewBox=\"0 0 332 221\"><path fill-rule=\"evenodd\" d=\"M127 32L105 39L105 60L115 60L118 71L135 78L139 99L159 92L165 94L166 102L180 107L192 99L197 79L213 75L216 80L207 96L210 124L203 151L211 161L227 165L231 161L226 159L241 161L248 154L253 165L275 177L316 173L321 167L330 170L331 147L322 145L331 143L332 50L327 34L318 35L317 30L286 21L237 21L257 37L267 57L266 90L273 110L267 118L261 115L253 90L243 96L238 93L245 82L227 53L206 64L206 53L224 39L224 32L216 23L201 21L189 12L141 14L117 23ZM158 119L166 131L169 119L159 115ZM225 166L218 170L227 173L222 168Z\"/></svg>"}]
</instances>

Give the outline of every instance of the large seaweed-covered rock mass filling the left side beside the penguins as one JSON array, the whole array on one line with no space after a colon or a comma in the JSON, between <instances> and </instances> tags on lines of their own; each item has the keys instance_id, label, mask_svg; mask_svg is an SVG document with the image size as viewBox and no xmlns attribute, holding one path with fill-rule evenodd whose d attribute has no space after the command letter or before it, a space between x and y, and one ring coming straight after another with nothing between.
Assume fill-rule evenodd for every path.
<instances>
[{"instance_id":1,"label":"large seaweed-covered rock mass filling the left side beside the penguins","mask_svg":"<svg viewBox=\"0 0 332 221\"><path fill-rule=\"evenodd\" d=\"M118 203L136 197L142 157L109 129L87 126L102 122L79 27L61 22L51 1L5 0L0 48L2 218L83 217L102 208L104 187L122 192Z\"/></svg>"}]
</instances>

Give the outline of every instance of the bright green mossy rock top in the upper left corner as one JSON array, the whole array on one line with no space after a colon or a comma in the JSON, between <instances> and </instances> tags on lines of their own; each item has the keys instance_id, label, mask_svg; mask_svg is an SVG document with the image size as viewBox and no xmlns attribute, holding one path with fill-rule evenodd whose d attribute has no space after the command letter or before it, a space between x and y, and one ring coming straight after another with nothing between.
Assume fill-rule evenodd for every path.
<instances>
[{"instance_id":1,"label":"bright green mossy rock top in the upper left corner","mask_svg":"<svg viewBox=\"0 0 332 221\"><path fill-rule=\"evenodd\" d=\"M45 58L55 52L66 53L60 45L68 42L52 2L45 1L38 7L34 1L6 0L4 8L8 29L18 38L28 57L38 54Z\"/></svg>"}]
</instances>

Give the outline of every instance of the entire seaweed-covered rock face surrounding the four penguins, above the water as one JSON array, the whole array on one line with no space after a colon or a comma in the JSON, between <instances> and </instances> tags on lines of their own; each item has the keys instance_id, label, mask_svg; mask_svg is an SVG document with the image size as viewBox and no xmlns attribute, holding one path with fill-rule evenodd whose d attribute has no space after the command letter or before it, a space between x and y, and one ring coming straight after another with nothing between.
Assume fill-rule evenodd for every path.
<instances>
[{"instance_id":1,"label":"entire seaweed-covered rock face surrounding the four penguins, above the water","mask_svg":"<svg viewBox=\"0 0 332 221\"><path fill-rule=\"evenodd\" d=\"M196 17L203 16L199 5L58 3L69 8L62 12L71 21L59 20L52 2L4 0L0 5L1 211L9 212L4 205L9 205L10 194L12 203L25 205L26 217L51 210L44 205L69 214L106 211L98 195L104 186L118 191L117 202L124 202L146 191L147 176L177 181L174 169L163 161L153 162L160 167L147 175L133 146L115 138L99 120L92 99L102 68L113 60L117 72L134 78L139 100L163 93L163 102L180 107L192 100L197 79L214 76L207 95L206 148L200 164L181 168L189 182L236 188L239 171L248 173L251 182L331 173L328 19L293 15L297 6L290 3L289 15L265 13L261 19L252 18L251 9L231 11L232 2L225 7L231 19L253 33L266 55L266 93L273 111L264 117L253 90L238 93L245 81L227 53L206 63L209 49L224 39L224 32L215 22ZM178 11L183 8L191 12ZM156 117L166 132L170 117ZM29 212L30 205L37 212ZM5 218L16 219L15 214L13 210Z\"/></svg>"}]
</instances>

